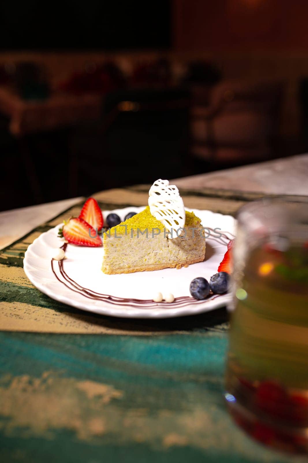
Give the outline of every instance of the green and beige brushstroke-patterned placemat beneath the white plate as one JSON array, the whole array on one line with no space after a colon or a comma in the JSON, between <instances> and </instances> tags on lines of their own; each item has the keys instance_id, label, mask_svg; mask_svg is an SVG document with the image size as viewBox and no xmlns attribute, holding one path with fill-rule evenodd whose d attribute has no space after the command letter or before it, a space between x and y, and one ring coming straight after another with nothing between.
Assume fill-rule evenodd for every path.
<instances>
[{"instance_id":1,"label":"green and beige brushstroke-patterned placemat beneath the white plate","mask_svg":"<svg viewBox=\"0 0 308 463\"><path fill-rule=\"evenodd\" d=\"M139 206L146 191L96 197L103 209ZM231 214L254 197L217 190L183 196L187 207ZM229 418L225 309L161 321L112 319L60 304L28 282L27 246L79 210L0 254L1 461L302 461L254 443Z\"/></svg>"}]
</instances>

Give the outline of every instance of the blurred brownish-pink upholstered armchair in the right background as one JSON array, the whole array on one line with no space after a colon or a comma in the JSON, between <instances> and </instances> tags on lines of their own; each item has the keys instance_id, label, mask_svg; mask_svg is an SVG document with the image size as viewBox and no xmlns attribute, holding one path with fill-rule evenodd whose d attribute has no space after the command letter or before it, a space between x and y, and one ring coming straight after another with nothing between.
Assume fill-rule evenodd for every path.
<instances>
[{"instance_id":1,"label":"blurred brownish-pink upholstered armchair in the right background","mask_svg":"<svg viewBox=\"0 0 308 463\"><path fill-rule=\"evenodd\" d=\"M193 89L192 156L214 168L271 157L283 90L282 82L248 81L222 81L211 89Z\"/></svg>"}]
</instances>

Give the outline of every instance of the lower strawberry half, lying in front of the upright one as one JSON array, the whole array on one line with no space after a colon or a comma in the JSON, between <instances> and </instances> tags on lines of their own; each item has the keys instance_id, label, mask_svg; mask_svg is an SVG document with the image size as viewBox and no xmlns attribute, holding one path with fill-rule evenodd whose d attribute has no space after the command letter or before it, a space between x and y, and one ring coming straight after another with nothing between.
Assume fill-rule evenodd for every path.
<instances>
[{"instance_id":1,"label":"lower strawberry half, lying in front of the upright one","mask_svg":"<svg viewBox=\"0 0 308 463\"><path fill-rule=\"evenodd\" d=\"M68 243L79 246L98 247L102 245L102 240L97 231L84 219L80 218L64 221L62 229L59 230L59 236L63 236Z\"/></svg>"}]
</instances>

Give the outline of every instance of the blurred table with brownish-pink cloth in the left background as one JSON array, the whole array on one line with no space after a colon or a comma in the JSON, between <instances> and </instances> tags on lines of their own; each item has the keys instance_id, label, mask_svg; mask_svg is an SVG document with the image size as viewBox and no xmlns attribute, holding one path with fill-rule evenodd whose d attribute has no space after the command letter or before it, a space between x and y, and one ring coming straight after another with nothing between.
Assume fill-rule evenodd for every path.
<instances>
[{"instance_id":1,"label":"blurred table with brownish-pink cloth in the left background","mask_svg":"<svg viewBox=\"0 0 308 463\"><path fill-rule=\"evenodd\" d=\"M46 100L22 100L10 87L0 87L0 111L9 117L15 136L59 129L102 117L103 96L54 93Z\"/></svg>"}]
</instances>

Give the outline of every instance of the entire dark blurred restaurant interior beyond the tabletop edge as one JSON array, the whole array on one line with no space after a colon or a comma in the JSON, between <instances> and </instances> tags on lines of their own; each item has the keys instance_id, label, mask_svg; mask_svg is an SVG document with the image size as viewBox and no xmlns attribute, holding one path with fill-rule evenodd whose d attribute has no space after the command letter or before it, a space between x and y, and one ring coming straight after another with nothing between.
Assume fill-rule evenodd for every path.
<instances>
[{"instance_id":1,"label":"entire dark blurred restaurant interior beyond the tabletop edge","mask_svg":"<svg viewBox=\"0 0 308 463\"><path fill-rule=\"evenodd\" d=\"M307 0L0 9L1 210L307 151Z\"/></svg>"}]
</instances>

